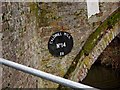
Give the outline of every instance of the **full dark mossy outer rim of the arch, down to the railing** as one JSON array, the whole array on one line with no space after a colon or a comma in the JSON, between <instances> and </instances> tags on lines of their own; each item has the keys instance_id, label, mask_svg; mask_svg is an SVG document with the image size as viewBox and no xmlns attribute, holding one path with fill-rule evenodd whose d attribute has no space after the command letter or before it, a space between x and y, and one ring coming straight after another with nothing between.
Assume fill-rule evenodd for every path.
<instances>
[{"instance_id":1,"label":"full dark mossy outer rim of the arch, down to the railing","mask_svg":"<svg viewBox=\"0 0 120 90\"><path fill-rule=\"evenodd\" d=\"M120 20L120 8L118 8L111 16L109 16L102 24L93 32L87 41L85 42L82 50L77 54L75 59L73 60L71 66L69 67L67 73L64 75L64 78L69 78L71 73L75 70L79 59L84 56L88 55L90 51L94 48L98 40L102 36L102 32L105 33L105 31L109 28L112 28L111 26L114 26L119 20ZM82 63L82 61L81 61Z\"/></svg>"}]
</instances>

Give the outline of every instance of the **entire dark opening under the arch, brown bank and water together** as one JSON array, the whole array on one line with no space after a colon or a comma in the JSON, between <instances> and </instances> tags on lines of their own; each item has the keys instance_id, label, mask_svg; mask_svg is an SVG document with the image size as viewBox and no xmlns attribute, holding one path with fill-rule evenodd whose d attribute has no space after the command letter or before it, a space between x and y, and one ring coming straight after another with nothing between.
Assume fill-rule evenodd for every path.
<instances>
[{"instance_id":1,"label":"entire dark opening under the arch, brown bank and water together","mask_svg":"<svg viewBox=\"0 0 120 90\"><path fill-rule=\"evenodd\" d=\"M120 34L105 48L82 80L98 89L120 89Z\"/></svg>"}]
</instances>

